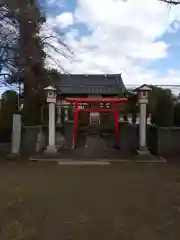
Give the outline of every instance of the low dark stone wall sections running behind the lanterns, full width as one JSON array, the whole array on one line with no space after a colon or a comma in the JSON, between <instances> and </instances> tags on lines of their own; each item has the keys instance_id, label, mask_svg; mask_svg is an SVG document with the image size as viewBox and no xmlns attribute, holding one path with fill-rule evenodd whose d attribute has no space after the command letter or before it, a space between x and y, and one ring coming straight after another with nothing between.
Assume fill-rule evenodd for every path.
<instances>
[{"instance_id":1,"label":"low dark stone wall sections running behind the lanterns, full width","mask_svg":"<svg viewBox=\"0 0 180 240\"><path fill-rule=\"evenodd\" d=\"M73 121L66 122L64 127L57 127L56 131L62 133L65 138L65 148L72 149L73 143ZM37 153L37 142L39 132L44 134L44 143L39 146L40 151L48 143L48 126L26 126L22 131L22 153L32 155ZM87 131L87 130L86 130ZM135 152L139 145L138 125L120 123L119 146L123 152ZM115 132L102 133L106 149L113 149L116 144ZM83 150L87 147L87 134L83 131L77 133L77 148ZM10 152L10 143L0 144L0 152ZM180 155L180 128L178 127L147 127L147 145L151 153L159 156ZM83 152L82 151L82 152ZM93 151L92 151L93 152Z\"/></svg>"}]
</instances>

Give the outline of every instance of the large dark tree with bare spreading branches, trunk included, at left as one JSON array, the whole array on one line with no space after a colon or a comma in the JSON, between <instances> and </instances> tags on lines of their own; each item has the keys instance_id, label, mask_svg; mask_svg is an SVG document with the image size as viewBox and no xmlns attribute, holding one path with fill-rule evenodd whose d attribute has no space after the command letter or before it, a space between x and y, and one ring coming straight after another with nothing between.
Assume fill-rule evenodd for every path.
<instances>
[{"instance_id":1,"label":"large dark tree with bare spreading branches, trunk included, at left","mask_svg":"<svg viewBox=\"0 0 180 240\"><path fill-rule=\"evenodd\" d=\"M26 124L38 124L40 109L44 104L43 89L47 84L48 75L58 76L58 72L55 75L49 74L50 72L45 69L45 62L49 58L64 71L61 62L45 49L51 49L57 53L56 56L60 54L63 57L69 57L71 51L62 41L62 33L46 23L45 16L36 0L9 0L8 7L5 5L3 7L11 13L6 15L6 18L11 22L13 16L18 24L15 27L17 30L15 40L8 31L13 49L7 47L7 44L4 45L9 51L6 51L6 59L3 57L2 63L7 65L8 59L12 59L7 70L11 75L8 83L18 83L19 86L24 87L25 122ZM6 27L5 30L7 31ZM4 53L2 56L5 56ZM2 64L2 71L4 69L5 65Z\"/></svg>"}]
</instances>

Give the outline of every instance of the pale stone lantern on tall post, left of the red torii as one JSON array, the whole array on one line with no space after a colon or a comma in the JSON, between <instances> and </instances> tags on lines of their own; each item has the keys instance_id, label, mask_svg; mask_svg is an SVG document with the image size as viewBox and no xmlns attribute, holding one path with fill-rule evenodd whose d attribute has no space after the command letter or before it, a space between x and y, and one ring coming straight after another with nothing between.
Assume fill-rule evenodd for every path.
<instances>
[{"instance_id":1,"label":"pale stone lantern on tall post, left of the red torii","mask_svg":"<svg viewBox=\"0 0 180 240\"><path fill-rule=\"evenodd\" d=\"M46 101L49 104L49 136L48 146L45 150L46 153L56 153L57 149L55 146L55 108L56 108L56 88L48 86L44 89L46 91Z\"/></svg>"}]
</instances>

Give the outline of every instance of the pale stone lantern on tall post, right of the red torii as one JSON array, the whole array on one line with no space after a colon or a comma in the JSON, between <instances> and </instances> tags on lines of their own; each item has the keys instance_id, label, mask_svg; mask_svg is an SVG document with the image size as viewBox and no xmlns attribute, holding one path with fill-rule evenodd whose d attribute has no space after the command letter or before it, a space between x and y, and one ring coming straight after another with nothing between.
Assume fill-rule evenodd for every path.
<instances>
[{"instance_id":1,"label":"pale stone lantern on tall post, right of the red torii","mask_svg":"<svg viewBox=\"0 0 180 240\"><path fill-rule=\"evenodd\" d=\"M149 154L146 143L146 108L148 104L149 92L152 89L147 85L135 89L138 94L138 103L140 105L140 119L139 119L139 154Z\"/></svg>"}]
</instances>

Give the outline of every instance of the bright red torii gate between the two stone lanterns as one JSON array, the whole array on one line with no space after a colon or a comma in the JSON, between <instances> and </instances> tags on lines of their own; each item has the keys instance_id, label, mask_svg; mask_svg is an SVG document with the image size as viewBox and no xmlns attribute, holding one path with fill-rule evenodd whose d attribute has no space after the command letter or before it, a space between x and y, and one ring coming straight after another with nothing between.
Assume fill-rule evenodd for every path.
<instances>
[{"instance_id":1,"label":"bright red torii gate between the two stone lanterns","mask_svg":"<svg viewBox=\"0 0 180 240\"><path fill-rule=\"evenodd\" d=\"M77 122L79 112L114 112L115 131L116 131L116 145L119 143L119 114L118 104L128 102L128 98L65 98L67 102L75 104L74 106L74 131L73 131L73 149L76 147L77 138ZM111 103L113 108L79 108L81 103Z\"/></svg>"}]
</instances>

